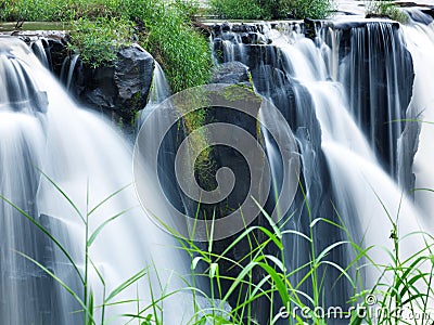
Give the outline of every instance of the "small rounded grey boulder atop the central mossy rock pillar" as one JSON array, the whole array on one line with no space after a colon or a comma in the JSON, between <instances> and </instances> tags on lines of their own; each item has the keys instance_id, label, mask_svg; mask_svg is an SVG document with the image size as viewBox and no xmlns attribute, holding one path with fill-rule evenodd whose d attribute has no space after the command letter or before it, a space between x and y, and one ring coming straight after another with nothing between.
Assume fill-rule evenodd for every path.
<instances>
[{"instance_id":1,"label":"small rounded grey boulder atop the central mossy rock pillar","mask_svg":"<svg viewBox=\"0 0 434 325\"><path fill-rule=\"evenodd\" d=\"M252 77L248 67L241 62L234 61L220 64L214 70L210 83L243 83L252 86L251 80Z\"/></svg>"}]
</instances>

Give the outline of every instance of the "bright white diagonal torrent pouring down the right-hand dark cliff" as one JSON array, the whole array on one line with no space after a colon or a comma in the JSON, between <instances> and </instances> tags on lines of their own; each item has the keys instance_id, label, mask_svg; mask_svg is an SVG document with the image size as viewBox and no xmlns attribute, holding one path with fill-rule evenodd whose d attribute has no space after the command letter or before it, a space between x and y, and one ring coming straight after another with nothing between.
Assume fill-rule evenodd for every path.
<instances>
[{"instance_id":1,"label":"bright white diagonal torrent pouring down the right-hand dark cliff","mask_svg":"<svg viewBox=\"0 0 434 325\"><path fill-rule=\"evenodd\" d=\"M327 46L323 43L316 47L306 38L293 44L278 42L278 46L293 67L291 77L306 86L312 96L322 132L321 147L337 198L337 211L354 238L362 234L360 245L375 245L370 256L376 263L392 262L383 250L393 250L393 240L390 238L392 221L398 224L400 236L427 227L420 226L422 221L417 209L376 160L372 146L350 115L343 86L337 80L329 79L329 76L337 75L328 70L328 57L323 55L332 52L332 49L324 50ZM348 67L342 66L340 70L345 68ZM422 245L421 237L412 236L411 246L403 247L403 257L418 251ZM376 276L370 270L366 285L372 286Z\"/></svg>"}]
</instances>

